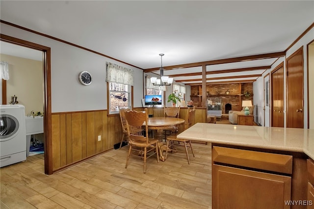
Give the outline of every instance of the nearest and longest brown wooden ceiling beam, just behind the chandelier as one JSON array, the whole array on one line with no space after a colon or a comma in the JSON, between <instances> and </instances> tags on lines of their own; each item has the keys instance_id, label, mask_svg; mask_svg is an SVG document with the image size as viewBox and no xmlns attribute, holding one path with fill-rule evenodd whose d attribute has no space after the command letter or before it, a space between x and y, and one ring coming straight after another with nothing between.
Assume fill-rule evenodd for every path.
<instances>
[{"instance_id":1,"label":"nearest and longest brown wooden ceiling beam, just behind the chandelier","mask_svg":"<svg viewBox=\"0 0 314 209\"><path fill-rule=\"evenodd\" d=\"M264 54L256 54L256 55L249 55L249 56L239 56L239 57L234 57L234 58L210 60L210 61L205 61L205 62L194 62L194 63L189 63L189 64L165 66L163 68L164 70L173 70L173 69L180 69L180 68L199 67L202 65L217 65L217 64L243 62L243 61L251 61L251 60L258 60L258 59L278 58L285 55L286 55L286 52L264 53ZM159 67L145 69L143 72L147 73L147 72L152 72L152 71L157 71L157 70L159 70Z\"/></svg>"}]
</instances>

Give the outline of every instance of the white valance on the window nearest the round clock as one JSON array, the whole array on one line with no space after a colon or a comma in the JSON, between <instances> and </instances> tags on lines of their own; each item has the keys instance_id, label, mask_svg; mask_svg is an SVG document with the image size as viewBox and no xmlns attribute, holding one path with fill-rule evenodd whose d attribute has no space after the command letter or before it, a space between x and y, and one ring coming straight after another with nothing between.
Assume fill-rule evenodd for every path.
<instances>
[{"instance_id":1,"label":"white valance on the window nearest the round clock","mask_svg":"<svg viewBox=\"0 0 314 209\"><path fill-rule=\"evenodd\" d=\"M113 63L107 63L107 82L133 85L133 70Z\"/></svg>"}]
</instances>

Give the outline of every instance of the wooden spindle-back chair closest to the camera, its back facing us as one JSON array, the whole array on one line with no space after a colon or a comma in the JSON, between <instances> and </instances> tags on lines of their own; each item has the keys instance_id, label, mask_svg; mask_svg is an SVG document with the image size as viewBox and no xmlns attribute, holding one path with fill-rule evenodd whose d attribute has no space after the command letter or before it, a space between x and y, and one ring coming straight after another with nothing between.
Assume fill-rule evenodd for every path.
<instances>
[{"instance_id":1,"label":"wooden spindle-back chair closest to the camera, its back facing us","mask_svg":"<svg viewBox=\"0 0 314 209\"><path fill-rule=\"evenodd\" d=\"M126 111L127 131L129 134L129 153L127 157L126 168L128 167L130 156L144 158L144 173L146 173L146 159L153 155L157 155L159 162L157 139L148 137L147 126L147 108L145 112ZM143 126L145 122L145 125ZM149 156L147 157L147 154Z\"/></svg>"}]
</instances>

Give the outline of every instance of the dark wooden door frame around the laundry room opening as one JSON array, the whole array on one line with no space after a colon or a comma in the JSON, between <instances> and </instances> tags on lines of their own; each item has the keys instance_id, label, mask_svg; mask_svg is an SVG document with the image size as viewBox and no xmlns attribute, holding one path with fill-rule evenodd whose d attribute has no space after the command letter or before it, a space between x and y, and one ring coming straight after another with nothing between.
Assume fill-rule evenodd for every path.
<instances>
[{"instance_id":1,"label":"dark wooden door frame around the laundry room opening","mask_svg":"<svg viewBox=\"0 0 314 209\"><path fill-rule=\"evenodd\" d=\"M44 89L44 163L45 174L52 174L52 147L48 146L51 139L51 49L22 39L0 34L0 41L27 47L43 52L43 89Z\"/></svg>"}]
</instances>

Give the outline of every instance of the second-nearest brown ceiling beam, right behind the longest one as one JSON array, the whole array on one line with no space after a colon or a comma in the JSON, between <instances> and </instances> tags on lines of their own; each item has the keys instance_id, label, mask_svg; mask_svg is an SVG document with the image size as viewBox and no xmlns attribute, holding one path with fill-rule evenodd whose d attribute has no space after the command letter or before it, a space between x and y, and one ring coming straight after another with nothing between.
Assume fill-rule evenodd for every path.
<instances>
[{"instance_id":1,"label":"second-nearest brown ceiling beam, right behind the longest one","mask_svg":"<svg viewBox=\"0 0 314 209\"><path fill-rule=\"evenodd\" d=\"M269 66L258 66L258 67L250 67L250 68L236 68L236 69L229 69L229 70L216 70L216 71L207 71L206 75L212 74L221 74L221 73L237 73L237 72L245 72L245 71L254 71L254 70L267 70L270 69ZM186 77L186 76L202 76L202 73L183 73L183 74L171 74L166 75L171 77Z\"/></svg>"}]
</instances>

